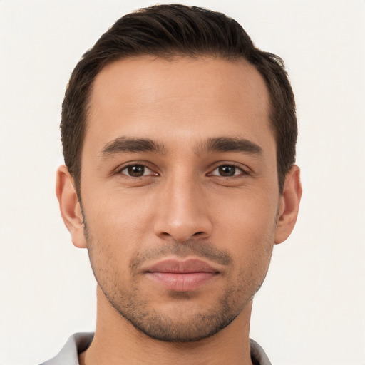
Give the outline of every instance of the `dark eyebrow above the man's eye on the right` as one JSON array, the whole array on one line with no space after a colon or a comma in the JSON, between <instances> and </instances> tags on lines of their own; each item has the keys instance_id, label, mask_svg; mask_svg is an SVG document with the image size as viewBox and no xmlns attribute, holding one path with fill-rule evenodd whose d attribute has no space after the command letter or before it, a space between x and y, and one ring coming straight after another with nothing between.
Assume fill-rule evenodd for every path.
<instances>
[{"instance_id":1,"label":"dark eyebrow above the man's eye on the right","mask_svg":"<svg viewBox=\"0 0 365 365\"><path fill-rule=\"evenodd\" d=\"M197 153L202 152L240 152L249 155L262 155L262 148L245 138L218 137L209 138L199 146Z\"/></svg>"}]
</instances>

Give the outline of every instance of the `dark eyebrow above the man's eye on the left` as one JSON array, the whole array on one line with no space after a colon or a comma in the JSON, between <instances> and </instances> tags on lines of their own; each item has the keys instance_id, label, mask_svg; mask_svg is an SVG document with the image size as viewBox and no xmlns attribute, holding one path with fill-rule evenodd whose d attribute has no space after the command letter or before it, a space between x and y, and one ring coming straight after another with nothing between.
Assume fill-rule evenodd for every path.
<instances>
[{"instance_id":1,"label":"dark eyebrow above the man's eye on the left","mask_svg":"<svg viewBox=\"0 0 365 365\"><path fill-rule=\"evenodd\" d=\"M112 157L117 153L123 152L155 152L165 153L163 143L158 143L149 138L126 138L120 137L107 143L100 152L101 158Z\"/></svg>"}]
</instances>

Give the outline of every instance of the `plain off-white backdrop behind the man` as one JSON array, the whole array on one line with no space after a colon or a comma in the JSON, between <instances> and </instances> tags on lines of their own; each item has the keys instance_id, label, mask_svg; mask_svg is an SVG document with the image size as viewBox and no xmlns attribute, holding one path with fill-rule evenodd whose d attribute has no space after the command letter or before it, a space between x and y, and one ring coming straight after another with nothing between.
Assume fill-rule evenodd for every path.
<instances>
[{"instance_id":1,"label":"plain off-white backdrop behind the man","mask_svg":"<svg viewBox=\"0 0 365 365\"><path fill-rule=\"evenodd\" d=\"M61 102L81 54L151 4L0 0L1 365L39 364L94 329L96 282L54 194ZM364 365L365 1L185 4L234 17L282 56L297 97L302 207L274 247L251 336L273 364Z\"/></svg>"}]
</instances>

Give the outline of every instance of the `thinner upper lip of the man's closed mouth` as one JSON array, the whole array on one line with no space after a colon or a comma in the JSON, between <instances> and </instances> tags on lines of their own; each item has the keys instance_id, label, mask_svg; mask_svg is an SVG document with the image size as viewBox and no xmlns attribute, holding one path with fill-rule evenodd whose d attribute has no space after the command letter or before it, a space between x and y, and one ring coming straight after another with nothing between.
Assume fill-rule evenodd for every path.
<instances>
[{"instance_id":1,"label":"thinner upper lip of the man's closed mouth","mask_svg":"<svg viewBox=\"0 0 365 365\"><path fill-rule=\"evenodd\" d=\"M207 264L200 259L163 259L160 262L152 264L145 269L145 272L170 272L174 274L189 274L192 272L212 272L217 273L219 270Z\"/></svg>"}]
</instances>

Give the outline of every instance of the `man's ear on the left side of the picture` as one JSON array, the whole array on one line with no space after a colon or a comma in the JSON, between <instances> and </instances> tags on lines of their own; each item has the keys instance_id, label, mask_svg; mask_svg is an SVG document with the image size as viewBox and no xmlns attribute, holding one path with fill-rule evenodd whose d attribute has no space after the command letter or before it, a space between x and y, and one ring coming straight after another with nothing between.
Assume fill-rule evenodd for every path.
<instances>
[{"instance_id":1,"label":"man's ear on the left side of the picture","mask_svg":"<svg viewBox=\"0 0 365 365\"><path fill-rule=\"evenodd\" d=\"M65 165L60 166L57 170L56 195L63 222L71 233L73 245L86 248L81 206L78 202L74 180Z\"/></svg>"}]
</instances>

